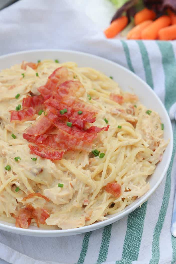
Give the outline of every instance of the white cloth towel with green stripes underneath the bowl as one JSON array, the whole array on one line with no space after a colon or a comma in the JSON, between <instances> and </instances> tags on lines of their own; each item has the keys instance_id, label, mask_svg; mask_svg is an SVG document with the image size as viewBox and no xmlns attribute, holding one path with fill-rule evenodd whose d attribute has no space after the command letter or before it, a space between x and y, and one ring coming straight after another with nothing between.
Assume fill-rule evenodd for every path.
<instances>
[{"instance_id":1,"label":"white cloth towel with green stripes underneath the bowl","mask_svg":"<svg viewBox=\"0 0 176 264\"><path fill-rule=\"evenodd\" d=\"M37 48L96 54L145 80L168 111L176 102L176 42L106 40L74 1L19 1L0 11L0 23L1 54ZM34 238L1 231L0 258L15 264L176 263L176 238L170 232L176 181L174 122L173 130L167 176L141 208L105 228L72 237Z\"/></svg>"}]
</instances>

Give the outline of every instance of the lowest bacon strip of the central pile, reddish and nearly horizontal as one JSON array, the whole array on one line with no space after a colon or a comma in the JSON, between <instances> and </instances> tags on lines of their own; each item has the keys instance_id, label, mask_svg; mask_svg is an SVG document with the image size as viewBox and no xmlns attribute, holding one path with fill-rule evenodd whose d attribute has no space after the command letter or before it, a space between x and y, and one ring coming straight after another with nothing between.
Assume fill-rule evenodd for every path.
<instances>
[{"instance_id":1,"label":"lowest bacon strip of the central pile, reddish and nearly horizontal","mask_svg":"<svg viewBox=\"0 0 176 264\"><path fill-rule=\"evenodd\" d=\"M31 145L29 144L28 147L31 150L31 154L35 153L36 155L45 158L45 159L51 159L51 160L57 160L59 161L62 159L64 155L64 150L55 150L52 148L47 148L45 146L37 146L37 145Z\"/></svg>"}]
</instances>

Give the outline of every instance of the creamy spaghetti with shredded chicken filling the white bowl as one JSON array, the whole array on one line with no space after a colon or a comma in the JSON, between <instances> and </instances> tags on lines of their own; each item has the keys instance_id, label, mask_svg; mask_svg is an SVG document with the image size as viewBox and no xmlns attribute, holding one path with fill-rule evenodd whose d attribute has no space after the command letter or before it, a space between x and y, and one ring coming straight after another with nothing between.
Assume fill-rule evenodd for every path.
<instances>
[{"instance_id":1,"label":"creamy spaghetti with shredded chicken filling the white bowl","mask_svg":"<svg viewBox=\"0 0 176 264\"><path fill-rule=\"evenodd\" d=\"M82 122L84 128L77 126L78 131L73 135L70 131L74 129L75 119L72 121L68 117L66 108L68 115L64 124L69 132L57 127L56 133L56 128L50 126L49 137L53 139L55 135L52 142L55 146L60 131L64 134L61 134L59 146L68 145L68 142L61 142L66 133L70 138L69 147L66 151L62 148L60 160L53 160L43 158L41 153L37 155L34 149L32 152L28 145L32 142L34 146L38 137L34 135L31 139L31 134L25 132L44 116L48 120L48 108L39 105L28 120L12 120L11 111L16 109L21 113L23 98L40 95L37 88L46 88L48 77L59 67L67 69L67 82L79 81L83 85L75 92L77 100L86 104L79 109L77 103L79 120L84 109L89 112L92 109L94 115L89 120L95 121ZM63 79L63 83L65 81ZM0 92L1 220L23 228L30 223L42 228L83 227L123 210L149 190L147 177L153 174L168 144L163 139L164 125L158 113L146 109L136 95L124 93L113 79L92 68L78 68L74 62L58 64L45 60L36 67L23 63L2 70ZM61 115L66 115L63 108L60 111L63 111ZM91 126L96 127L93 134ZM103 129L95 132L97 128ZM87 129L89 135L94 135L92 141L79 138L79 130L84 136ZM41 147L46 142L42 140L37 143Z\"/></svg>"}]
</instances>

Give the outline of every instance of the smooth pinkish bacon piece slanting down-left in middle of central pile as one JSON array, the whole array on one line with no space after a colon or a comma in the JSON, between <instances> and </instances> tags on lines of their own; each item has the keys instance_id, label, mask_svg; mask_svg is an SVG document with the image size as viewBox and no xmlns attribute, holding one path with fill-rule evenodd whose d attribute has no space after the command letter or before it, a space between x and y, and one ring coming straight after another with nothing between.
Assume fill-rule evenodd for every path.
<instances>
[{"instance_id":1,"label":"smooth pinkish bacon piece slanting down-left in middle of central pile","mask_svg":"<svg viewBox=\"0 0 176 264\"><path fill-rule=\"evenodd\" d=\"M25 129L25 133L38 136L44 134L49 128L51 128L51 126L52 123L49 121L49 119L47 119L46 116L41 115L34 124Z\"/></svg>"}]
</instances>

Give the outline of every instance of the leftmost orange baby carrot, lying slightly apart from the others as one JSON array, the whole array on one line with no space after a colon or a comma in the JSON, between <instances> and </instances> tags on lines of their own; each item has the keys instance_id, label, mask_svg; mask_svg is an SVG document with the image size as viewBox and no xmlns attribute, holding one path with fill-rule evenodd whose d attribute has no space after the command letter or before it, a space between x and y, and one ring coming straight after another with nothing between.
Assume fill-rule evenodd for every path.
<instances>
[{"instance_id":1,"label":"leftmost orange baby carrot, lying slightly apart from the others","mask_svg":"<svg viewBox=\"0 0 176 264\"><path fill-rule=\"evenodd\" d=\"M110 26L104 30L105 36L109 39L115 37L128 24L127 16L122 16L114 20Z\"/></svg>"}]
</instances>

